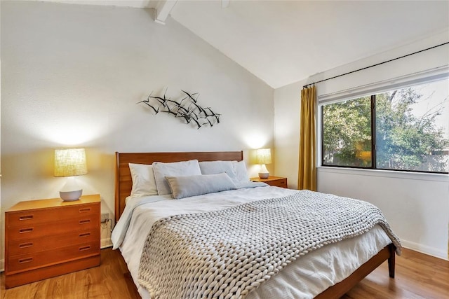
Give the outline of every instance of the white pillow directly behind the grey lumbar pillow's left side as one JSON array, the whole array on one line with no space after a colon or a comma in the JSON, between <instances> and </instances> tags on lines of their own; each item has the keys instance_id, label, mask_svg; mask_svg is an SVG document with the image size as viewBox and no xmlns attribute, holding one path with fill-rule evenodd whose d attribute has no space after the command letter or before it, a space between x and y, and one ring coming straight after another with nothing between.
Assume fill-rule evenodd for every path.
<instances>
[{"instance_id":1,"label":"white pillow directly behind the grey lumbar pillow's left side","mask_svg":"<svg viewBox=\"0 0 449 299\"><path fill-rule=\"evenodd\" d=\"M159 195L171 194L170 186L166 176L195 176L201 175L198 160L189 160L182 162L153 163L154 178L156 179L157 193Z\"/></svg>"}]
</instances>

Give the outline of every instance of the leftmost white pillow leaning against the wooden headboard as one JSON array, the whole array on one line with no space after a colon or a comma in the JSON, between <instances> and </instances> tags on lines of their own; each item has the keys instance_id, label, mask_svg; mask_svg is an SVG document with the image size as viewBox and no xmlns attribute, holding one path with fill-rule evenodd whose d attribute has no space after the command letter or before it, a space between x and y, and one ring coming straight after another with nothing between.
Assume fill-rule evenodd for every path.
<instances>
[{"instance_id":1,"label":"leftmost white pillow leaning against the wooden headboard","mask_svg":"<svg viewBox=\"0 0 449 299\"><path fill-rule=\"evenodd\" d=\"M157 195L152 165L129 163L129 169L133 180L130 196Z\"/></svg>"}]
</instances>

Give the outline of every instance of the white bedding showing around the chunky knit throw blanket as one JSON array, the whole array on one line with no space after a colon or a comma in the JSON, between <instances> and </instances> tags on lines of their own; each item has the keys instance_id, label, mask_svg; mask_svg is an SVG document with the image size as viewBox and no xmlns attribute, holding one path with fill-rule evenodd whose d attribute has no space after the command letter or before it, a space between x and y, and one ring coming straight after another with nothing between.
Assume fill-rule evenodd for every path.
<instances>
[{"instance_id":1,"label":"white bedding showing around the chunky knit throw blanket","mask_svg":"<svg viewBox=\"0 0 449 299\"><path fill-rule=\"evenodd\" d=\"M138 268L149 229L159 218L214 211L295 192L297 190L268 186L210 193L182 200L172 200L169 195L133 197L128 200L125 211L114 228L112 242L114 248L120 248L140 295L142 298L149 298L146 289L137 283ZM314 298L329 286L348 277L389 243L389 237L376 225L364 235L324 246L297 258L279 274L251 292L247 298Z\"/></svg>"}]
</instances>

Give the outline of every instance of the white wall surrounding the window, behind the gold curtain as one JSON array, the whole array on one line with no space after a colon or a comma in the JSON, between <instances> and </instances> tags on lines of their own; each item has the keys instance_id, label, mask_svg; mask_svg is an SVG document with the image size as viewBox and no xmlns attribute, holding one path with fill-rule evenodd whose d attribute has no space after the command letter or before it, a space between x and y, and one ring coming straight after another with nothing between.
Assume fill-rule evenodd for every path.
<instances>
[{"instance_id":1,"label":"white wall surrounding the window, behind the gold curtain","mask_svg":"<svg viewBox=\"0 0 449 299\"><path fill-rule=\"evenodd\" d=\"M449 32L439 32L420 41L276 89L274 91L276 174L288 176L290 188L297 188L302 85L368 67L447 41L449 41ZM382 64L379 67L318 83L316 85L317 94L318 96L328 95L448 65L448 53L449 46L441 46L434 50ZM323 193L356 197L376 204L382 209L405 246L440 258L448 258L448 175L398 174L396 172L319 167L318 189Z\"/></svg>"}]
</instances>

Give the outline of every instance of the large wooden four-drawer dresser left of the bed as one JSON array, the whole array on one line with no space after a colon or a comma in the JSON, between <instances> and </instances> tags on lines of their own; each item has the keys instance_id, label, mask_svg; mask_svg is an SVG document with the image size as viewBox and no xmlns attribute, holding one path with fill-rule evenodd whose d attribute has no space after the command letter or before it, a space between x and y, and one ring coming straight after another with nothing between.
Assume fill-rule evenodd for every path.
<instances>
[{"instance_id":1,"label":"large wooden four-drawer dresser left of the bed","mask_svg":"<svg viewBox=\"0 0 449 299\"><path fill-rule=\"evenodd\" d=\"M6 288L98 265L100 195L29 200L6 211Z\"/></svg>"}]
</instances>

